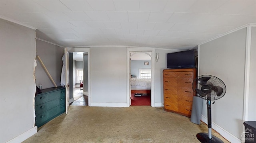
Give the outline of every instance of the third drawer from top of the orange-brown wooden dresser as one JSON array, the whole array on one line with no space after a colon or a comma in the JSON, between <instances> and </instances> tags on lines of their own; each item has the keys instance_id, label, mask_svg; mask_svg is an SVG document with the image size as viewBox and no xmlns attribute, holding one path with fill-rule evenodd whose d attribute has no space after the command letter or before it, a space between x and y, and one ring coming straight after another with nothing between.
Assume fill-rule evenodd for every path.
<instances>
[{"instance_id":1,"label":"third drawer from top of the orange-brown wooden dresser","mask_svg":"<svg viewBox=\"0 0 256 143\"><path fill-rule=\"evenodd\" d=\"M164 85L165 94L176 94L182 96L193 96L192 87L180 87L180 86L167 86Z\"/></svg>"}]
</instances>

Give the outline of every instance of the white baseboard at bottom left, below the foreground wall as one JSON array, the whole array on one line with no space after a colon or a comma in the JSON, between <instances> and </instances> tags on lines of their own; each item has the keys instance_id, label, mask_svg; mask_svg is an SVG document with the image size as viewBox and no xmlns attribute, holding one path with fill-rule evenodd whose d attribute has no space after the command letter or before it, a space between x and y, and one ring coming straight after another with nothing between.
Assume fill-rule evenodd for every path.
<instances>
[{"instance_id":1,"label":"white baseboard at bottom left, below the foreground wall","mask_svg":"<svg viewBox=\"0 0 256 143\"><path fill-rule=\"evenodd\" d=\"M17 137L14 137L13 139L7 141L6 143L21 143L22 141L25 141L26 139L34 135L35 133L37 133L37 126L32 127L28 131L18 135Z\"/></svg>"}]
</instances>

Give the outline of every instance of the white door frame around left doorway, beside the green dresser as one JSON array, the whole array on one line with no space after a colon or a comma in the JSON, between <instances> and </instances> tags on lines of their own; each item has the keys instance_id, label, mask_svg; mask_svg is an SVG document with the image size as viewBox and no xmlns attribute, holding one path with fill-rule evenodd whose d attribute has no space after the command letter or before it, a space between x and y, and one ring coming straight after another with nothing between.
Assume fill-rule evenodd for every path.
<instances>
[{"instance_id":1,"label":"white door frame around left doorway, beside the green dresser","mask_svg":"<svg viewBox=\"0 0 256 143\"><path fill-rule=\"evenodd\" d=\"M65 51L68 53L74 53L74 52L85 52L88 53L88 106L91 106L91 66L90 66L90 48L65 48ZM68 59L68 58L66 58ZM68 61L69 62L69 61ZM66 98L68 95L66 94ZM69 103L68 103L69 105Z\"/></svg>"}]
</instances>

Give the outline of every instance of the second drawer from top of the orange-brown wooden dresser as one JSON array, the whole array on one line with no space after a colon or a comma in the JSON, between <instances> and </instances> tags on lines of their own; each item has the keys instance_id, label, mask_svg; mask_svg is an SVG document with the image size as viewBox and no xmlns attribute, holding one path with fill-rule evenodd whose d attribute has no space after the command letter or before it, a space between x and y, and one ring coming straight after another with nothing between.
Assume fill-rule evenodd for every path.
<instances>
[{"instance_id":1,"label":"second drawer from top of the orange-brown wooden dresser","mask_svg":"<svg viewBox=\"0 0 256 143\"><path fill-rule=\"evenodd\" d=\"M166 86L192 87L193 78L164 78Z\"/></svg>"}]
</instances>

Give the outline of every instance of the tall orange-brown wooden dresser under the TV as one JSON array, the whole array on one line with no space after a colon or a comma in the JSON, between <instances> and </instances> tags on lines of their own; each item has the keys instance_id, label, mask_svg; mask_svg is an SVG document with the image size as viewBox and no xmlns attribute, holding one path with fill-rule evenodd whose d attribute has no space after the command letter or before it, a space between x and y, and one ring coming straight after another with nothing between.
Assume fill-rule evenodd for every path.
<instances>
[{"instance_id":1,"label":"tall orange-brown wooden dresser under the TV","mask_svg":"<svg viewBox=\"0 0 256 143\"><path fill-rule=\"evenodd\" d=\"M192 82L196 78L196 69L165 69L164 110L184 116L191 116L194 94Z\"/></svg>"}]
</instances>

